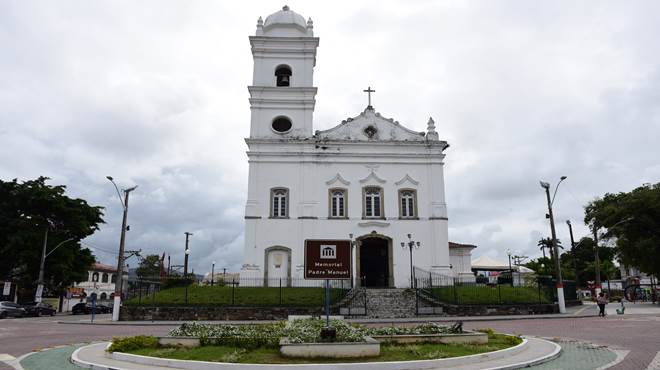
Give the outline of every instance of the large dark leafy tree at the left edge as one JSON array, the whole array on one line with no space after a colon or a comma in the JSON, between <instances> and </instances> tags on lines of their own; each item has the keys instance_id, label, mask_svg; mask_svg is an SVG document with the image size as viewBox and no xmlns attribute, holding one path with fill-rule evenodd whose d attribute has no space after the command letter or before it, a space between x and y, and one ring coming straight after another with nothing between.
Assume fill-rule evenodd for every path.
<instances>
[{"instance_id":1,"label":"large dark leafy tree at the left edge","mask_svg":"<svg viewBox=\"0 0 660 370\"><path fill-rule=\"evenodd\" d=\"M45 292L62 293L72 283L86 280L95 262L80 240L103 223L102 207L69 198L64 194L65 186L51 186L47 180L0 180L0 278L17 283L22 297L31 296L36 289L46 230L48 251L72 240L48 256Z\"/></svg>"}]
</instances>

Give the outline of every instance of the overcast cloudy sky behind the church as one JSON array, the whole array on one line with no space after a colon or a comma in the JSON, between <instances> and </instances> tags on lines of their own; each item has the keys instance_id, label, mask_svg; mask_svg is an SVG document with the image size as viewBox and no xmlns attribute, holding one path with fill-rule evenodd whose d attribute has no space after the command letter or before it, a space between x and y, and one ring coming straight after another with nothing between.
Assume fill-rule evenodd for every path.
<instances>
[{"instance_id":1,"label":"overcast cloudy sky behind the church","mask_svg":"<svg viewBox=\"0 0 660 370\"><path fill-rule=\"evenodd\" d=\"M0 178L52 178L106 208L87 240L240 268L249 134L248 36L272 1L3 1ZM660 2L289 1L321 38L315 129L376 110L416 131L432 116L446 157L450 240L538 256L543 179L568 176L558 236L583 206L660 181ZM114 253L113 253L114 252ZM135 259L129 260L132 266Z\"/></svg>"}]
</instances>

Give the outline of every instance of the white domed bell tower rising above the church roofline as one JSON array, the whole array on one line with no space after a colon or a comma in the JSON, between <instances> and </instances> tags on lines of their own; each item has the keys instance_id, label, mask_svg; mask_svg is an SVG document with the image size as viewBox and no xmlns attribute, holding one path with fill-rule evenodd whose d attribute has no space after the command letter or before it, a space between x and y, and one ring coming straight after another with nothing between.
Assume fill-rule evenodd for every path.
<instances>
[{"instance_id":1,"label":"white domed bell tower rising above the church roofline","mask_svg":"<svg viewBox=\"0 0 660 370\"><path fill-rule=\"evenodd\" d=\"M316 104L314 66L319 39L311 18L284 6L250 36L254 70L250 91L251 139L311 137Z\"/></svg>"}]
</instances>

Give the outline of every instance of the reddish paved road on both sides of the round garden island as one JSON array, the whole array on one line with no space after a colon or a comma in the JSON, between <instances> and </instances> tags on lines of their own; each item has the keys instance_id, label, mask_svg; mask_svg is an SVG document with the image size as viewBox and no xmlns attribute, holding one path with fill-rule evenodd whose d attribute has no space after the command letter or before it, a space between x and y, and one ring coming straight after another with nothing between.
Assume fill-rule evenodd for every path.
<instances>
[{"instance_id":1,"label":"reddish paved road on both sides of the round garden island","mask_svg":"<svg viewBox=\"0 0 660 370\"><path fill-rule=\"evenodd\" d=\"M657 306L656 306L657 307ZM591 309L591 308L588 308ZM595 309L595 308L594 308ZM0 320L0 356L19 357L38 349L138 334L164 335L175 326L83 325L90 316L56 316ZM109 315L97 315L109 321ZM72 322L61 324L58 321ZM550 338L569 338L630 351L612 369L660 369L660 309L646 314L465 322L466 329L496 331ZM10 369L0 362L0 369Z\"/></svg>"}]
</instances>

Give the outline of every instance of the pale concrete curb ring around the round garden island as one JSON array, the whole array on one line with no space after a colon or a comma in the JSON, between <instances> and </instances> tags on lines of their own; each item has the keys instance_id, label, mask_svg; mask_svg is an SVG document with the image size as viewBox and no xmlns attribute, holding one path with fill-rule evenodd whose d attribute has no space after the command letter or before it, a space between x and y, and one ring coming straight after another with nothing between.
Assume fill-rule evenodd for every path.
<instances>
[{"instance_id":1,"label":"pale concrete curb ring around the round garden island","mask_svg":"<svg viewBox=\"0 0 660 370\"><path fill-rule=\"evenodd\" d=\"M533 338L534 341L544 341L549 342L540 338ZM542 363L549 361L551 359L559 356L561 352L561 347L553 342L553 350L551 353L546 353L540 357L523 361L514 364L508 364L505 366L493 367L489 370L504 370L504 369L518 369L531 366L534 364ZM486 354L476 354L470 356L454 357L447 359L436 359L436 360L420 360L420 361L400 361L400 362L384 362L384 363L374 363L374 362L362 362L362 363L334 363L334 364L293 364L293 365L282 365L282 364L233 364L233 363L219 363L219 362L204 362L204 361L185 361L185 360L172 360L172 359L163 359L156 357L147 357L139 355L131 355L126 353L113 353L111 358L115 361L124 361L132 362L140 365L154 366L154 367L176 367L180 369L188 370L265 370L265 369L279 369L279 370L317 370L317 369L326 369L326 370L368 370L368 369L380 369L380 370L423 370L423 369L433 369L433 368L449 368L452 366L465 366L471 364L479 364L491 360L499 360L506 357L511 357L516 354L519 354L527 349L530 346L530 341L527 338L523 338L523 342L517 346L498 350L494 352L489 352ZM71 361L81 367L95 370L130 370L127 367L108 367L101 364L94 364L91 362L83 361L79 358L79 352L85 350L86 347L81 347L77 349L71 355ZM127 364L130 366L129 364ZM138 365L139 366L139 365Z\"/></svg>"}]
</instances>

